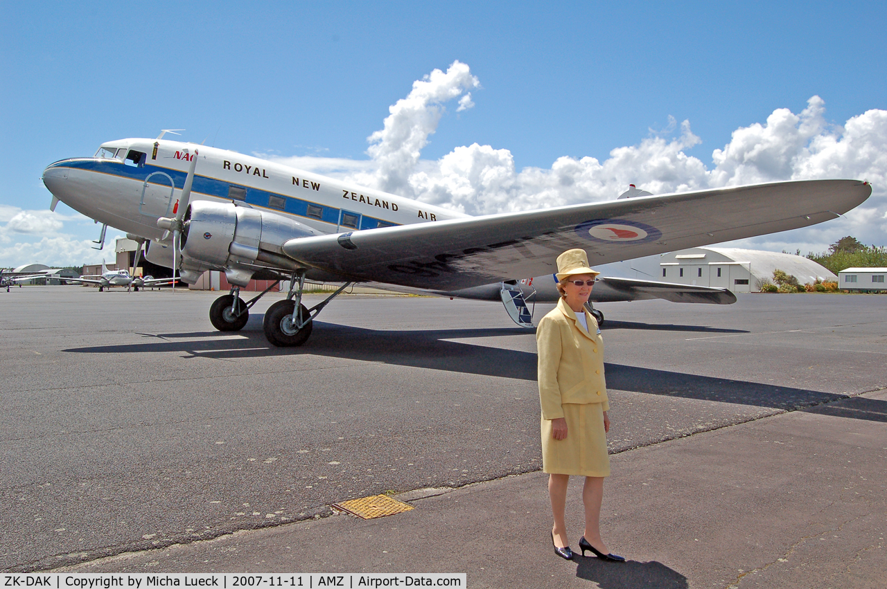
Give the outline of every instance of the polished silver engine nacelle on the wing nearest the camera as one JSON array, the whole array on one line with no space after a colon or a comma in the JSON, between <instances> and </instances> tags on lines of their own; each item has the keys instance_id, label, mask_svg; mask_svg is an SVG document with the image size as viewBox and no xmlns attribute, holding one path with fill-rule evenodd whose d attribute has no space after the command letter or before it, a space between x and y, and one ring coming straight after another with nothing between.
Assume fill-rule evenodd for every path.
<instances>
[{"instance_id":1,"label":"polished silver engine nacelle on the wing nearest the camera","mask_svg":"<svg viewBox=\"0 0 887 589\"><path fill-rule=\"evenodd\" d=\"M247 285L252 270L238 264L254 263L260 251L280 256L287 240L318 235L283 215L206 200L188 205L184 221L182 267L229 270L228 281L239 286Z\"/></svg>"}]
</instances>

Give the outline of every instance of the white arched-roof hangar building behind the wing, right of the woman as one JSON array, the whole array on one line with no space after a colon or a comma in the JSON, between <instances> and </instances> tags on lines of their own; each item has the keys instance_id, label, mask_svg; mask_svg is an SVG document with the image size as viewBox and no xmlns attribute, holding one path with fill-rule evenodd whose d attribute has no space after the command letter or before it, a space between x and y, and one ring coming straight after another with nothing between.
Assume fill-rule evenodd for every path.
<instances>
[{"instance_id":1,"label":"white arched-roof hangar building behind the wing, right of the woman","mask_svg":"<svg viewBox=\"0 0 887 589\"><path fill-rule=\"evenodd\" d=\"M802 256L734 247L694 247L595 269L604 275L713 286L734 292L760 291L761 283L773 282L776 269L795 276L801 284L837 281L837 276L827 268Z\"/></svg>"}]
</instances>

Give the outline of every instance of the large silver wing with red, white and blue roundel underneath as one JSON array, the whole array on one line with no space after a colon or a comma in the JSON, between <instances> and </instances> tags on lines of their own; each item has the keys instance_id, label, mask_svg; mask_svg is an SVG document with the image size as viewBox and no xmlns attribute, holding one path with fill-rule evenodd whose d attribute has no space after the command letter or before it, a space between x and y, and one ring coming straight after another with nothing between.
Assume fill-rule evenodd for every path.
<instances>
[{"instance_id":1,"label":"large silver wing with red, white and blue roundel underneath","mask_svg":"<svg viewBox=\"0 0 887 589\"><path fill-rule=\"evenodd\" d=\"M775 182L290 239L283 252L349 280L453 291L553 274L569 248L592 266L834 219L867 182Z\"/></svg>"}]
</instances>

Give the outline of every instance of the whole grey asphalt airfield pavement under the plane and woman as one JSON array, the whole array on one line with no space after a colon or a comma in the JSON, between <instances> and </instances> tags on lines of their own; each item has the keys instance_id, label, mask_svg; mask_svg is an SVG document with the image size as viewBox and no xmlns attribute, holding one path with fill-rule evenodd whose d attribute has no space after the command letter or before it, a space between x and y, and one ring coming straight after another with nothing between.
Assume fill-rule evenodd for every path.
<instances>
[{"instance_id":1,"label":"whole grey asphalt airfield pavement under the plane and woman","mask_svg":"<svg viewBox=\"0 0 887 589\"><path fill-rule=\"evenodd\" d=\"M4 293L0 569L880 586L883 296L600 306L614 422L604 525L632 559L618 573L553 562L535 342L500 306L340 298L305 347L279 350L261 334L276 298L220 334L206 318L215 296ZM327 516L378 492L418 493L399 495L416 509ZM812 543L828 530L852 534ZM788 584L812 570L820 585Z\"/></svg>"}]
</instances>

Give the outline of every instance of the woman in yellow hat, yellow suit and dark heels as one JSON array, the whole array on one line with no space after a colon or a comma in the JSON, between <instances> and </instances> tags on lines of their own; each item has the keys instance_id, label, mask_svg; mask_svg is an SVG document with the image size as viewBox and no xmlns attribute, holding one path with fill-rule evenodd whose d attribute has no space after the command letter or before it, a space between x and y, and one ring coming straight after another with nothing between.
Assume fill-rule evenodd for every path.
<instances>
[{"instance_id":1,"label":"woman in yellow hat, yellow suit and dark heels","mask_svg":"<svg viewBox=\"0 0 887 589\"><path fill-rule=\"evenodd\" d=\"M596 272L588 267L583 250L568 250L557 258L561 300L539 322L539 401L542 405L542 464L549 473L554 554L572 560L564 507L570 475L585 477L585 534L579 540L582 555L590 550L605 561L624 562L610 554L600 538L600 503L604 477L609 476L607 454L607 384L604 382L603 340L593 316L585 311Z\"/></svg>"}]
</instances>

